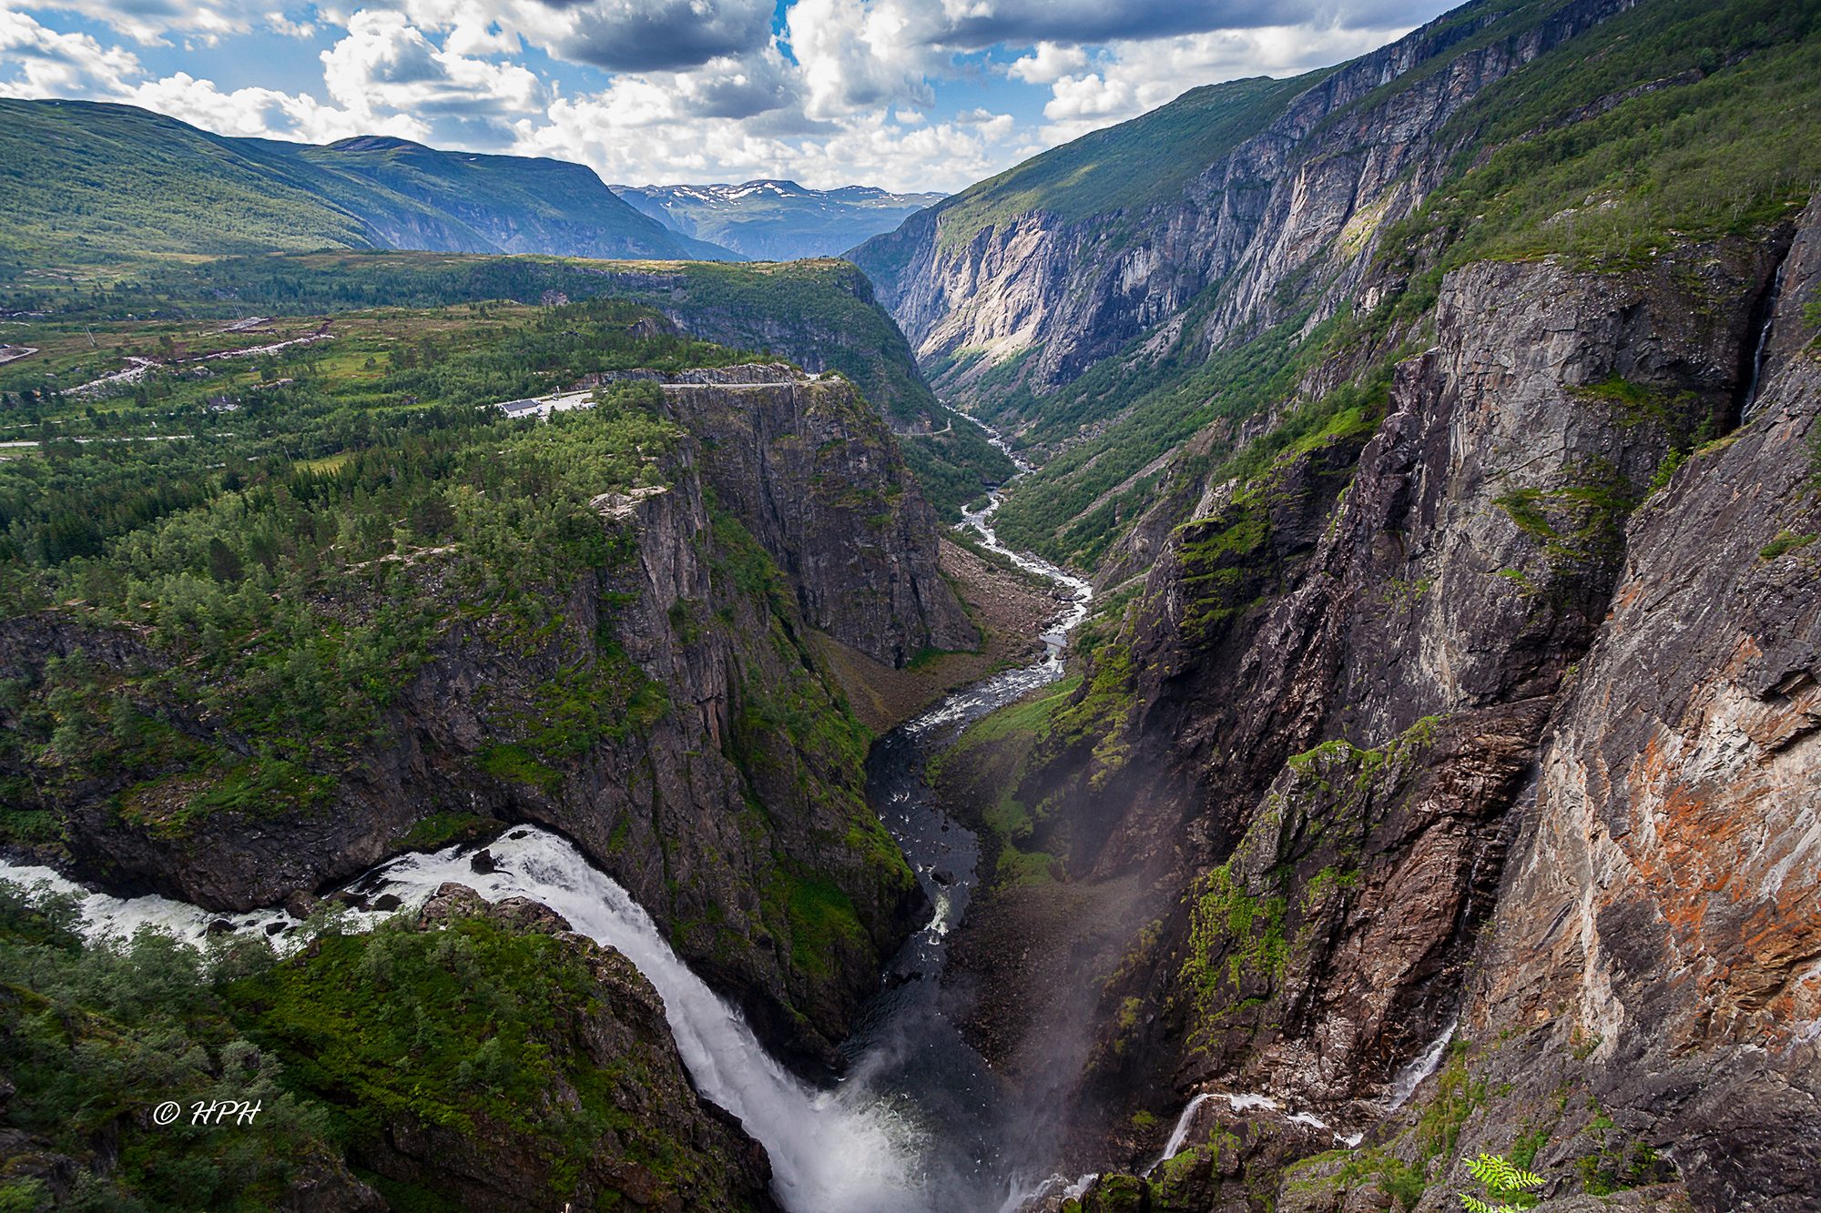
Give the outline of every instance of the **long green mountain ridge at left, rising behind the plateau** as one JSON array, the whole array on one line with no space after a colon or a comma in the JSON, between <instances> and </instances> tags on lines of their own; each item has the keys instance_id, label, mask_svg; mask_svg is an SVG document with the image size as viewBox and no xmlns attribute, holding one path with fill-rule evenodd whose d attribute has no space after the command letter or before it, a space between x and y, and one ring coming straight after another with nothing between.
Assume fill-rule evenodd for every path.
<instances>
[{"instance_id":1,"label":"long green mountain ridge at left, rising behind the plateau","mask_svg":"<svg viewBox=\"0 0 1821 1213\"><path fill-rule=\"evenodd\" d=\"M741 260L581 164L402 138L228 138L131 106L0 100L0 268L324 248Z\"/></svg>"}]
</instances>

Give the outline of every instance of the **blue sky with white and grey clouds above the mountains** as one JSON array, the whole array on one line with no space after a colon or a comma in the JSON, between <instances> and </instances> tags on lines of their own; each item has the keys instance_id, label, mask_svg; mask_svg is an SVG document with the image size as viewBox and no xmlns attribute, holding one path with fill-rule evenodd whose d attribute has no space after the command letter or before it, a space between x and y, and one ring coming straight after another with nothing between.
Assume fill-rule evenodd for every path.
<instances>
[{"instance_id":1,"label":"blue sky with white and grey clouds above the mountains","mask_svg":"<svg viewBox=\"0 0 1821 1213\"><path fill-rule=\"evenodd\" d=\"M608 182L954 191L1446 0L0 0L0 95L220 135L577 160Z\"/></svg>"}]
</instances>

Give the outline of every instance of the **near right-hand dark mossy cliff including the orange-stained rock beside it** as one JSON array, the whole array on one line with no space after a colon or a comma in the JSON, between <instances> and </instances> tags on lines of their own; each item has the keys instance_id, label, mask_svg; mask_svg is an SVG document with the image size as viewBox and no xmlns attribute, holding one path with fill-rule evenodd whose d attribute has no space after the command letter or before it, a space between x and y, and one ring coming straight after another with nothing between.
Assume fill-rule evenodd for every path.
<instances>
[{"instance_id":1,"label":"near right-hand dark mossy cliff including the orange-stained rock beside it","mask_svg":"<svg viewBox=\"0 0 1821 1213\"><path fill-rule=\"evenodd\" d=\"M1335 1144L1289 1113L1368 1140L1278 1208L1451 1208L1477 1149L1562 1197L1805 1208L1817 233L1464 266L1382 423L1169 535L1018 789L1082 878L1162 872L1102 996L1100 1131L1142 1158L1133 1107L1277 1102L1209 1102L1147 1208L1260 1208Z\"/></svg>"}]
</instances>

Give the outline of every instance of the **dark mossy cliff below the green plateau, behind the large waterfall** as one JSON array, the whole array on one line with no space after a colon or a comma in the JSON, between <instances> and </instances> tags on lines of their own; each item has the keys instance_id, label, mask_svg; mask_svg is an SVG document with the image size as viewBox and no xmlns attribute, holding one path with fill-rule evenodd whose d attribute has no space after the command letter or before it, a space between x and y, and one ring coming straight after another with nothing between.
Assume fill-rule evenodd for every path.
<instances>
[{"instance_id":1,"label":"dark mossy cliff below the green plateau, behind the large waterfall","mask_svg":"<svg viewBox=\"0 0 1821 1213\"><path fill-rule=\"evenodd\" d=\"M555 827L770 1042L836 1064L921 894L865 803L867 738L810 628L900 663L976 637L934 568L931 510L850 386L778 368L712 379L666 388L690 433L668 483L594 501L610 565L550 586L535 634L452 603L371 743L324 772L328 803L188 816L180 780L148 792L9 774L42 789L86 874L220 909L506 821ZM371 605L344 592L350 612ZM7 625L0 676L29 688L78 648L115 668L160 661L129 632L49 612ZM178 729L222 729L168 710Z\"/></svg>"}]
</instances>

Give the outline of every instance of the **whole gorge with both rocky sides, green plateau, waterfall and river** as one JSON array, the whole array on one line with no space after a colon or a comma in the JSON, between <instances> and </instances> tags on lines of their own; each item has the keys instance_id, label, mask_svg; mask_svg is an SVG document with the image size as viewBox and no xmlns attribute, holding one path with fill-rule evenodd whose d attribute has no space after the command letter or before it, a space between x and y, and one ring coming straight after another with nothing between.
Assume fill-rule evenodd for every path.
<instances>
[{"instance_id":1,"label":"whole gorge with both rocky sides, green plateau, waterfall and river","mask_svg":"<svg viewBox=\"0 0 1821 1213\"><path fill-rule=\"evenodd\" d=\"M1817 120L1475 0L839 262L13 288L0 1178L1816 1208Z\"/></svg>"}]
</instances>

